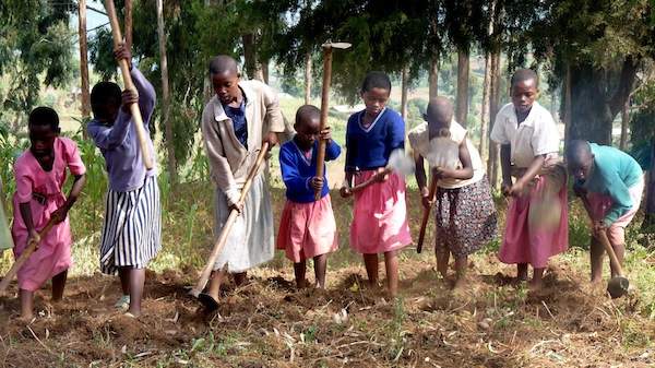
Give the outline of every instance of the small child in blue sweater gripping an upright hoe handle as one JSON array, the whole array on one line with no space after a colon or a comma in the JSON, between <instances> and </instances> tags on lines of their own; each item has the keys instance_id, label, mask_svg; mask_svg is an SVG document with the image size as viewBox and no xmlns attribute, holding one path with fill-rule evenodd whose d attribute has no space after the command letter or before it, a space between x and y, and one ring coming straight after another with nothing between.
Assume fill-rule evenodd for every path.
<instances>
[{"instance_id":1,"label":"small child in blue sweater gripping an upright hoe handle","mask_svg":"<svg viewBox=\"0 0 655 368\"><path fill-rule=\"evenodd\" d=\"M296 135L279 149L279 167L286 185L287 201L282 212L277 249L284 249L294 262L296 286L302 288L306 260L314 261L317 287L325 288L327 253L337 248L336 222L332 212L330 188L325 176L317 177L319 140L326 140L325 161L341 154L341 147L330 134L330 128L321 129L321 110L315 106L301 106L296 112ZM314 191L321 199L314 200Z\"/></svg>"}]
</instances>

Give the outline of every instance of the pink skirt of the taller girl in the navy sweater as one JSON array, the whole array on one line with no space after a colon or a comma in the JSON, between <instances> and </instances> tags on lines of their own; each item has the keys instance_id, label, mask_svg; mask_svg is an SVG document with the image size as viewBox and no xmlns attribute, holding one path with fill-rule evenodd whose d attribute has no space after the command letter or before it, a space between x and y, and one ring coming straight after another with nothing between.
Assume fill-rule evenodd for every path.
<instances>
[{"instance_id":1,"label":"pink skirt of the taller girl in the navy sweater","mask_svg":"<svg viewBox=\"0 0 655 368\"><path fill-rule=\"evenodd\" d=\"M355 177L355 185L376 175L362 171ZM412 244L405 180L390 174L383 182L374 182L355 193L355 210L350 224L350 247L358 253L376 254L401 249Z\"/></svg>"}]
</instances>

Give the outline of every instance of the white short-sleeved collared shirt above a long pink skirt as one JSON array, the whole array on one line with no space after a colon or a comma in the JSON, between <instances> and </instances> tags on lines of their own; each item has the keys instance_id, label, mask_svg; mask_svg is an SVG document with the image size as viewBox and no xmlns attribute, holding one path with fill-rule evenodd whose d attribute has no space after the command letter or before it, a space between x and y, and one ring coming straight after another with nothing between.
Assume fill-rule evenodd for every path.
<instances>
[{"instance_id":1,"label":"white short-sleeved collared shirt above a long pink skirt","mask_svg":"<svg viewBox=\"0 0 655 368\"><path fill-rule=\"evenodd\" d=\"M521 124L517 123L513 104L503 106L496 116L491 130L491 140L499 144L511 145L512 164L520 168L528 167L535 156L559 155L560 135L550 112L535 102Z\"/></svg>"}]
</instances>

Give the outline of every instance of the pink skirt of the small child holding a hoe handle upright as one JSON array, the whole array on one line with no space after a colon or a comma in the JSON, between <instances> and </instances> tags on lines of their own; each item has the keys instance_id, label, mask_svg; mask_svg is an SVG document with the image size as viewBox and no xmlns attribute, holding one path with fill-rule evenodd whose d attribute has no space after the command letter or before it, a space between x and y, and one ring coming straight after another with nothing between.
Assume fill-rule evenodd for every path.
<instances>
[{"instance_id":1,"label":"pink skirt of the small child holding a hoe handle upright","mask_svg":"<svg viewBox=\"0 0 655 368\"><path fill-rule=\"evenodd\" d=\"M277 233L277 249L294 263L335 251L336 222L330 194L317 202L286 201Z\"/></svg>"}]
</instances>

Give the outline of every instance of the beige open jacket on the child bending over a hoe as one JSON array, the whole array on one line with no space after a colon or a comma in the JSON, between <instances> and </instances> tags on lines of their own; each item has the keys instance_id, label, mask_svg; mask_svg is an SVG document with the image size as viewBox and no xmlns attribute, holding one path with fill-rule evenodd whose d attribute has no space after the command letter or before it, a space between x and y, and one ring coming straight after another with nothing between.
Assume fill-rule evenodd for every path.
<instances>
[{"instance_id":1,"label":"beige open jacket on the child bending over a hoe","mask_svg":"<svg viewBox=\"0 0 655 368\"><path fill-rule=\"evenodd\" d=\"M233 121L225 115L216 95L205 105L201 124L212 179L230 204L239 200L240 189L257 159L264 135L285 131L277 94L273 88L255 80L241 81L239 86L246 95L248 150L237 140Z\"/></svg>"}]
</instances>

